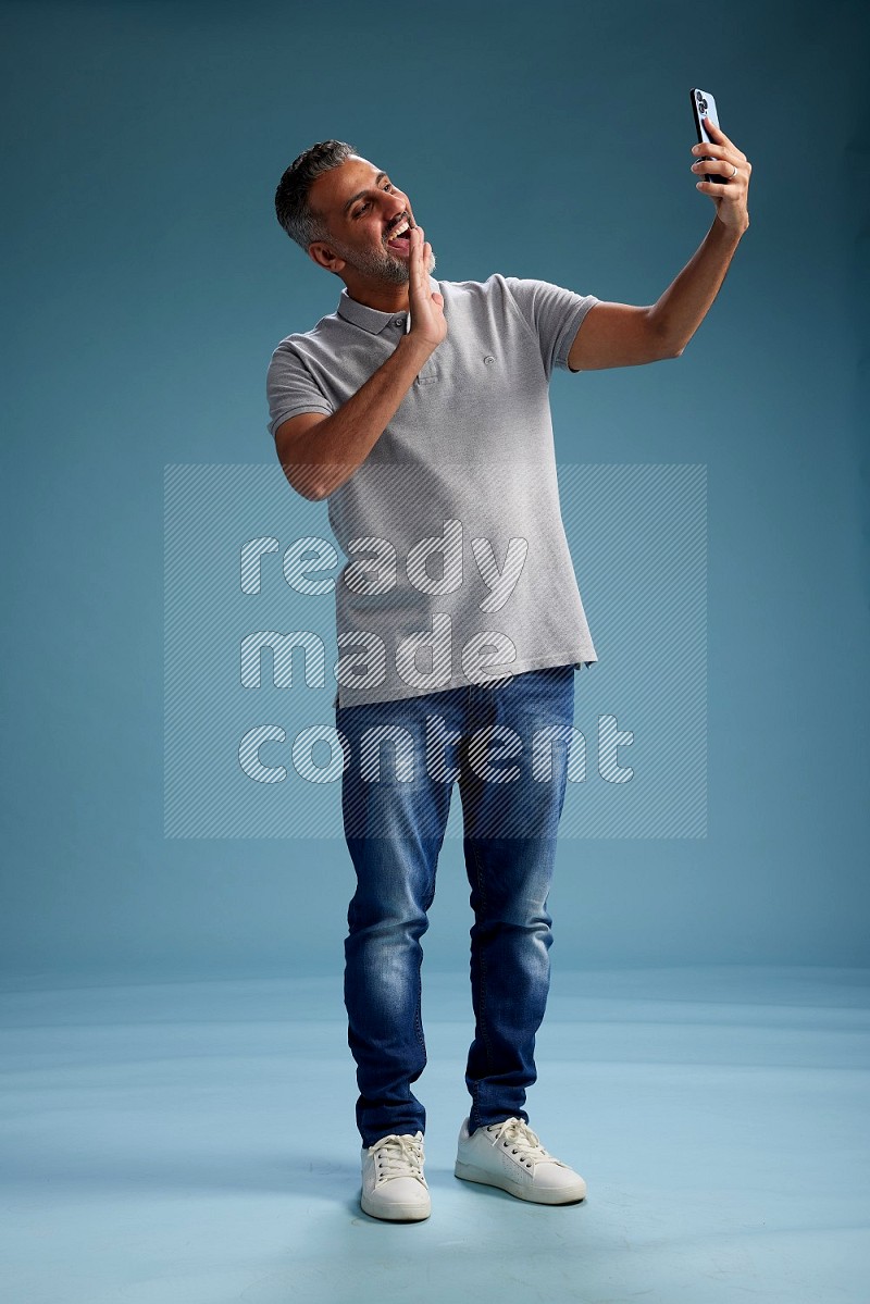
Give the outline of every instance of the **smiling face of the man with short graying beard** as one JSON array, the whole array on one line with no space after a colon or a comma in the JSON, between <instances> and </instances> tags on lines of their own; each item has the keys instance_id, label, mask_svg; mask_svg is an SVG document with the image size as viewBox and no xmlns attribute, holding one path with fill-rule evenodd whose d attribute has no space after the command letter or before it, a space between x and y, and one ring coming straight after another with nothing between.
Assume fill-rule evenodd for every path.
<instances>
[{"instance_id":1,"label":"smiling face of the man with short graying beard","mask_svg":"<svg viewBox=\"0 0 870 1304\"><path fill-rule=\"evenodd\" d=\"M318 266L348 283L407 284L411 241L407 230L404 240L393 240L393 232L416 222L407 194L393 185L386 172L352 154L317 177L309 203L323 215L329 231L329 240L316 240L308 248ZM430 252L427 271L432 273L434 263Z\"/></svg>"}]
</instances>

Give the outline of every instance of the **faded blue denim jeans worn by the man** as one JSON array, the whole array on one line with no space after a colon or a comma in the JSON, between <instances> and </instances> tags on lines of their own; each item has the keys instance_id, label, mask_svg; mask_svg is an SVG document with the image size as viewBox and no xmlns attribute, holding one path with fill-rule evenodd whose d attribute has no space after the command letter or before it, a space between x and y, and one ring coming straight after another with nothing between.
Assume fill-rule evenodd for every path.
<instances>
[{"instance_id":1,"label":"faded blue denim jeans worn by the man","mask_svg":"<svg viewBox=\"0 0 870 1304\"><path fill-rule=\"evenodd\" d=\"M535 1034L549 991L547 898L573 722L571 665L335 709L350 745L342 810L357 879L347 913L344 1003L360 1090L356 1123L367 1146L391 1132L425 1132L425 1110L411 1090L427 1063L420 939L454 782L475 915L470 1128L510 1116L528 1121L523 1106L537 1076ZM364 738L372 729L380 741Z\"/></svg>"}]
</instances>

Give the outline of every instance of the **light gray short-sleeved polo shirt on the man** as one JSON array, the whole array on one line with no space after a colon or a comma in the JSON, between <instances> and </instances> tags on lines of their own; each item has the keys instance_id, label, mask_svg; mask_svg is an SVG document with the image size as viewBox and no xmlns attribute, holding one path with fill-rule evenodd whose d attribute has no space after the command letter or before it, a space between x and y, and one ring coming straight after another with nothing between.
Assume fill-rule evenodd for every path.
<instances>
[{"instance_id":1,"label":"light gray short-sleeved polo shirt on the man","mask_svg":"<svg viewBox=\"0 0 870 1304\"><path fill-rule=\"evenodd\" d=\"M346 557L340 707L597 661L560 510L549 381L599 300L500 274L429 280L447 336L326 499ZM337 312L274 351L270 433L299 412L338 411L408 327L407 312L344 288Z\"/></svg>"}]
</instances>

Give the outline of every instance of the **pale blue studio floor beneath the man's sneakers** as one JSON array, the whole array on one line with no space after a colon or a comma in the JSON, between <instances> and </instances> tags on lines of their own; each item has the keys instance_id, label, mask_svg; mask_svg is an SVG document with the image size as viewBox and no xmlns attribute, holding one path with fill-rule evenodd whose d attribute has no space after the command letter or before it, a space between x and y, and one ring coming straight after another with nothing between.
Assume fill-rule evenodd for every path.
<instances>
[{"instance_id":1,"label":"pale blue studio floor beneath the man's sneakers","mask_svg":"<svg viewBox=\"0 0 870 1304\"><path fill-rule=\"evenodd\" d=\"M425 973L425 966L424 966ZM10 1304L870 1299L870 971L554 971L548 1209L458 1181L466 977L425 974L425 1223L363 1214L340 975L7 978Z\"/></svg>"}]
</instances>

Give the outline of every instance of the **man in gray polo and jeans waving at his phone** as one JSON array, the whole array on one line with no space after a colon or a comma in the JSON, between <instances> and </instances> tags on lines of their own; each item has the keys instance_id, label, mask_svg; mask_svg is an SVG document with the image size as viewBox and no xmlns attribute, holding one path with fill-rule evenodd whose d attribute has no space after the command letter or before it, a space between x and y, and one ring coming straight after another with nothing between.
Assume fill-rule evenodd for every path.
<instances>
[{"instance_id":1,"label":"man in gray polo and jeans waving at his phone","mask_svg":"<svg viewBox=\"0 0 870 1304\"><path fill-rule=\"evenodd\" d=\"M651 306L500 274L436 280L408 196L340 141L305 150L278 185L282 227L344 284L335 313L278 346L267 396L284 473L327 499L348 558L334 702L357 880L344 999L361 1206L376 1218L430 1211L411 1086L427 1061L420 938L454 782L475 915L455 1174L539 1204L586 1194L524 1110L549 988L574 670L597 660L561 520L548 386L556 366L678 357L694 335L749 226L751 166L706 125L713 143L691 166L716 176L698 183L716 218Z\"/></svg>"}]
</instances>

